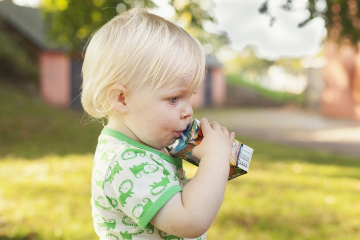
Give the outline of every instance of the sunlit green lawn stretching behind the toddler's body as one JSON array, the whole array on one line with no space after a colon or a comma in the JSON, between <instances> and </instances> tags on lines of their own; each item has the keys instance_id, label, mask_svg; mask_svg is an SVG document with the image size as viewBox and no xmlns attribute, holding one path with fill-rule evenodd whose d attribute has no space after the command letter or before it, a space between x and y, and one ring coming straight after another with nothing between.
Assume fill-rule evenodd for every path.
<instances>
[{"instance_id":1,"label":"sunlit green lawn stretching behind the toddler's body","mask_svg":"<svg viewBox=\"0 0 360 240\"><path fill-rule=\"evenodd\" d=\"M0 240L97 240L90 175L101 125L2 84L0 100ZM360 239L359 159L236 138L255 149L250 170L228 182L208 240Z\"/></svg>"}]
</instances>

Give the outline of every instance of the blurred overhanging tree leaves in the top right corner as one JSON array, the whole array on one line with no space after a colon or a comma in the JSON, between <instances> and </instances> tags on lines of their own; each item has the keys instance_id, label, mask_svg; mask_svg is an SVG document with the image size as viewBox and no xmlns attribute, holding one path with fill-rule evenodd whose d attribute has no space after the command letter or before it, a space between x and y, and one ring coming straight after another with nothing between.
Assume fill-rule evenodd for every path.
<instances>
[{"instance_id":1,"label":"blurred overhanging tree leaves in the top right corner","mask_svg":"<svg viewBox=\"0 0 360 240\"><path fill-rule=\"evenodd\" d=\"M269 1L265 0L259 7L259 12L270 16L270 25L276 17L269 11ZM280 7L286 11L295 10L293 0L284 0ZM309 16L299 22L299 27L305 26L315 17L325 21L328 38L335 41L350 41L355 46L360 40L360 0L308 0L306 8Z\"/></svg>"}]
</instances>

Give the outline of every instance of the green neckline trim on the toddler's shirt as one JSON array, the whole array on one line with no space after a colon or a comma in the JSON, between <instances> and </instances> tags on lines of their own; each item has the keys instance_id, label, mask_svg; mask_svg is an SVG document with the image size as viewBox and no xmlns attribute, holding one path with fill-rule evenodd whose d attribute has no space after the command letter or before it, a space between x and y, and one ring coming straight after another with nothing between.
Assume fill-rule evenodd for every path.
<instances>
[{"instance_id":1,"label":"green neckline trim on the toddler's shirt","mask_svg":"<svg viewBox=\"0 0 360 240\"><path fill-rule=\"evenodd\" d=\"M139 147L141 149L144 149L144 150L147 150L147 151L150 151L152 153L155 153L157 155L159 155L160 157L162 157L163 159L165 159L166 161L174 164L174 165L182 165L182 159L179 158L179 157L171 157L171 156L168 156L162 152L159 152L158 150L155 150L154 148L152 147L149 147L147 145L144 145L144 144L140 144L139 142L136 142L134 139L131 139L129 138L128 136L114 130L114 129L111 129L111 128L107 128L107 127L104 127L104 129L101 131L102 134L105 134L105 135L108 135L110 137L113 137L113 138L116 138L116 139L119 139L119 140L123 140L125 142L127 142L128 144L132 144L136 147Z\"/></svg>"}]
</instances>

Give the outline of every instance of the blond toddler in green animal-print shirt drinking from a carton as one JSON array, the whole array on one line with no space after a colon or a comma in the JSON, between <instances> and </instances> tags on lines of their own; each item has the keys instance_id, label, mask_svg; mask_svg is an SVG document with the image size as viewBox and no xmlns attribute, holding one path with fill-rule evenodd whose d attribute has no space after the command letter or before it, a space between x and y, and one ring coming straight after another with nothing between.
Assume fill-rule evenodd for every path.
<instances>
[{"instance_id":1,"label":"blond toddler in green animal-print shirt drinking from a carton","mask_svg":"<svg viewBox=\"0 0 360 240\"><path fill-rule=\"evenodd\" d=\"M98 29L83 65L82 104L107 118L95 151L91 204L101 240L205 240L221 206L235 137L201 119L201 159L188 181L168 146L191 122L205 77L198 40L135 7Z\"/></svg>"}]
</instances>

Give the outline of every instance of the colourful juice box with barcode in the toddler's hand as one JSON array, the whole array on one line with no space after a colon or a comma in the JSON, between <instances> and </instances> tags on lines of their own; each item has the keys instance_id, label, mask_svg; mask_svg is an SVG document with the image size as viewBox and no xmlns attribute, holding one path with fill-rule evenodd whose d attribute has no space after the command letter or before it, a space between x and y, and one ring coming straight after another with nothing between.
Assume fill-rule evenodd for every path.
<instances>
[{"instance_id":1,"label":"colourful juice box with barcode in the toddler's hand","mask_svg":"<svg viewBox=\"0 0 360 240\"><path fill-rule=\"evenodd\" d=\"M171 145L170 153L181 157L182 159L199 166L200 159L191 154L192 148L200 144L203 134L200 128L200 121L195 119L188 125L183 133L183 137L176 140ZM244 175L249 170L251 157L254 149L247 145L234 140L232 144L232 153L229 159L229 177L228 180Z\"/></svg>"}]
</instances>

